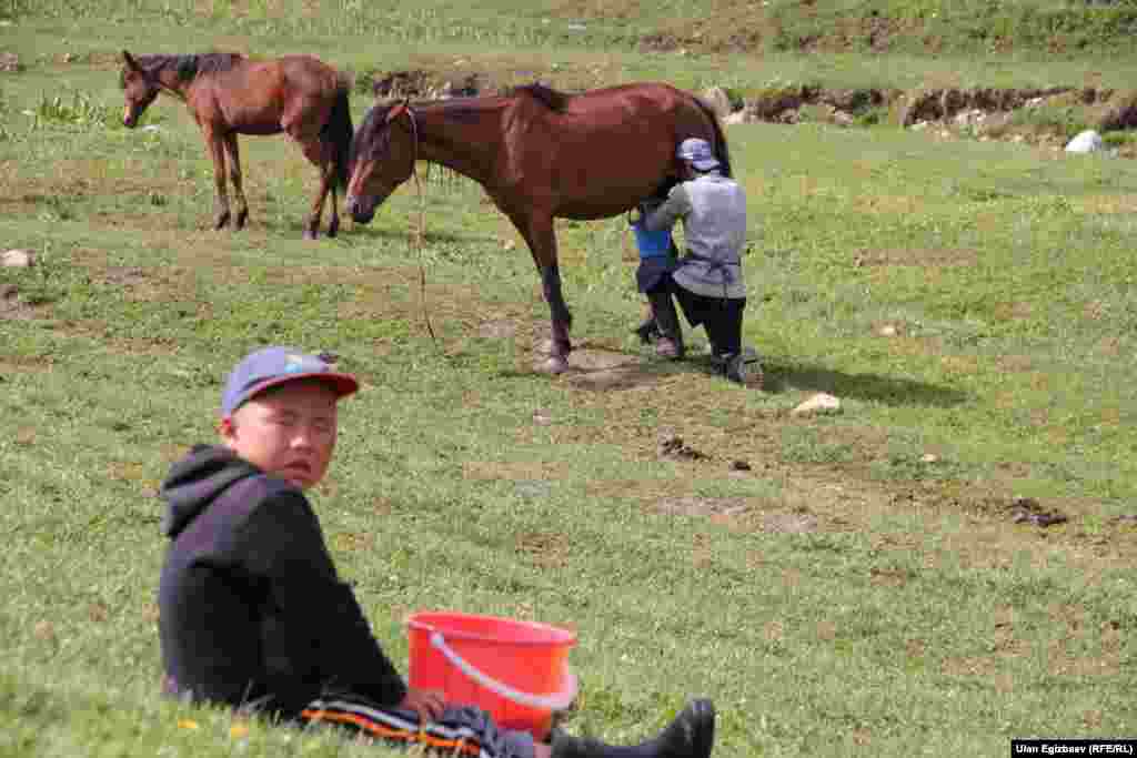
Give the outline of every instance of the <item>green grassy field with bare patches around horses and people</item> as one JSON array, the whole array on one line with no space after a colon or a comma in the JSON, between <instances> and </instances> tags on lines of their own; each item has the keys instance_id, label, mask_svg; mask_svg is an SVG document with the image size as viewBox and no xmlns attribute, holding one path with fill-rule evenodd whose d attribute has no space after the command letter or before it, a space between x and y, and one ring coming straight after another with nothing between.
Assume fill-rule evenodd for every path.
<instances>
[{"instance_id":1,"label":"green grassy field with bare patches around horses and people","mask_svg":"<svg viewBox=\"0 0 1137 758\"><path fill-rule=\"evenodd\" d=\"M927 25L972 3L815 9L871 6ZM156 488L213 439L233 361L277 342L331 350L365 382L315 500L400 664L416 609L571 625L572 730L637 740L706 694L728 757L1137 735L1137 164L887 126L731 127L750 201L746 338L769 391L640 351L621 219L559 226L580 368L548 378L531 370L548 314L532 264L476 186L426 183L421 253L409 186L370 227L306 243L313 170L282 139L247 139L250 227L207 231L194 125L159 100L157 130L122 128L116 59L217 48L570 84L1126 86L1124 34L1109 55L1046 60L1030 40L968 48L965 25L944 27L960 42L938 57L901 38L887 55L682 56L640 36L761 19L731 2L525 7L0 0L0 52L24 66L0 73L0 250L39 256L0 269L0 756L387 755L156 695ZM810 20L794 10L761 13ZM357 123L367 105L355 98ZM790 415L819 391L843 413ZM662 456L669 433L705 458ZM1016 499L1069 520L1015 523Z\"/></svg>"}]
</instances>

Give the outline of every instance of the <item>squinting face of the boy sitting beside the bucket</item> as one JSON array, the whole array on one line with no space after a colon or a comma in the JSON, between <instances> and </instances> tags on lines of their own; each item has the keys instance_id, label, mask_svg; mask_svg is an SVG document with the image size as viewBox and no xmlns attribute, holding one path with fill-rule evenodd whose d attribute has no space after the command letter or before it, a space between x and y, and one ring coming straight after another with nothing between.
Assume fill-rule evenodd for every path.
<instances>
[{"instance_id":1,"label":"squinting face of the boy sitting beside the bucket","mask_svg":"<svg viewBox=\"0 0 1137 758\"><path fill-rule=\"evenodd\" d=\"M319 380L269 388L222 419L222 440L266 474L307 490L324 478L332 460L338 400Z\"/></svg>"}]
</instances>

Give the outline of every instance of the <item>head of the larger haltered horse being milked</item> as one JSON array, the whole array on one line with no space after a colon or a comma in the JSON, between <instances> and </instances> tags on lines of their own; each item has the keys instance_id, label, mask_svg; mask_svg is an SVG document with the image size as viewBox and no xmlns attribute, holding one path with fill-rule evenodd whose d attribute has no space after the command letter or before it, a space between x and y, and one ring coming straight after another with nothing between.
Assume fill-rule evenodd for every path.
<instances>
[{"instance_id":1,"label":"head of the larger haltered horse being milked","mask_svg":"<svg viewBox=\"0 0 1137 758\"><path fill-rule=\"evenodd\" d=\"M375 208L414 170L418 124L406 101L375 106L351 139L351 178L346 207L351 219L367 224Z\"/></svg>"}]
</instances>

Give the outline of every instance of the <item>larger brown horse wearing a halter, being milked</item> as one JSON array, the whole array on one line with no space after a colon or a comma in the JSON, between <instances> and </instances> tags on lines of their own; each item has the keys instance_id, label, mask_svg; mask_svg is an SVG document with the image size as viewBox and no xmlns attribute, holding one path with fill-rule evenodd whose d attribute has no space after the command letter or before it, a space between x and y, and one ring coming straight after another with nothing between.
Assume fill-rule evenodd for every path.
<instances>
[{"instance_id":1,"label":"larger brown horse wearing a halter, being milked","mask_svg":"<svg viewBox=\"0 0 1137 758\"><path fill-rule=\"evenodd\" d=\"M667 84L565 94L540 84L505 97L375 106L351 142L346 207L366 224L413 173L441 164L479 182L524 238L551 316L546 370L567 368L572 315L561 291L553 219L608 218L673 181L675 148L700 136L730 173L714 113Z\"/></svg>"}]
</instances>

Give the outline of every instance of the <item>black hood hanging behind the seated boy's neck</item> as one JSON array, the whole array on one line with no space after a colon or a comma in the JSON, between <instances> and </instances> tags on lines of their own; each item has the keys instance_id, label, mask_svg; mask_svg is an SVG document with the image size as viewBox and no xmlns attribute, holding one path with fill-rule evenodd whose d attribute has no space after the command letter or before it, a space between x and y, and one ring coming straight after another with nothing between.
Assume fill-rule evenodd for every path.
<instances>
[{"instance_id":1,"label":"black hood hanging behind the seated boy's neck","mask_svg":"<svg viewBox=\"0 0 1137 758\"><path fill-rule=\"evenodd\" d=\"M198 444L174 464L159 494L168 505L163 533L174 539L190 522L234 482L260 474L260 469L225 447Z\"/></svg>"}]
</instances>

